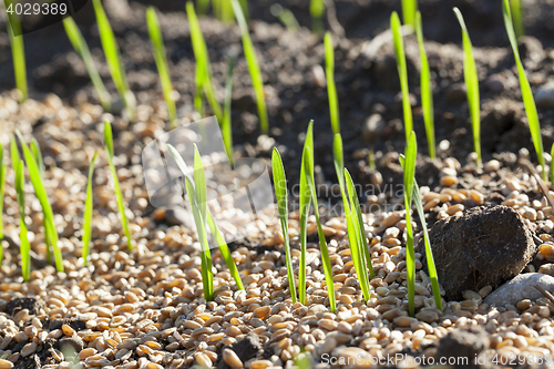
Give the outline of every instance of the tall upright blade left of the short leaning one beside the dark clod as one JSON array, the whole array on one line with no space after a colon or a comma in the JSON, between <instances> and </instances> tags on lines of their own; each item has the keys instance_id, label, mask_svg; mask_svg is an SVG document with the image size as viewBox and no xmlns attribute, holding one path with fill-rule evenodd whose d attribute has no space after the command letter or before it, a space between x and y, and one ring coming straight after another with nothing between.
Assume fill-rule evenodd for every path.
<instances>
[{"instance_id":1,"label":"tall upright blade left of the short leaning one beside the dark clod","mask_svg":"<svg viewBox=\"0 0 554 369\"><path fill-rule=\"evenodd\" d=\"M408 309L410 316L416 314L416 254L413 249L413 229L411 221L411 207L413 199L413 186L416 175L416 157L418 156L418 143L416 133L411 133L406 146L404 154L404 206L406 206L406 270L408 274Z\"/></svg>"}]
</instances>

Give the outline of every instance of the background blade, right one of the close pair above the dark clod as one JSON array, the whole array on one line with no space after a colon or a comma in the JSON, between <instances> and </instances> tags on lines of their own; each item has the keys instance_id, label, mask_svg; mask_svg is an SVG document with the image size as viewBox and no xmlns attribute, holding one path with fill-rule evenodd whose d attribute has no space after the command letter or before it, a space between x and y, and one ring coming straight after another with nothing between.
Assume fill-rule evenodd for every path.
<instances>
[{"instance_id":1,"label":"background blade, right one of the close pair above the dark clod","mask_svg":"<svg viewBox=\"0 0 554 369\"><path fill-rule=\"evenodd\" d=\"M423 44L423 27L421 24L421 13L416 13L416 33L418 35L419 54L421 60L421 109L423 111L423 121L425 123L427 143L429 145L429 156L437 157L434 142L434 109L433 109L433 89L431 85L431 71L429 60L427 59L425 47Z\"/></svg>"}]
</instances>

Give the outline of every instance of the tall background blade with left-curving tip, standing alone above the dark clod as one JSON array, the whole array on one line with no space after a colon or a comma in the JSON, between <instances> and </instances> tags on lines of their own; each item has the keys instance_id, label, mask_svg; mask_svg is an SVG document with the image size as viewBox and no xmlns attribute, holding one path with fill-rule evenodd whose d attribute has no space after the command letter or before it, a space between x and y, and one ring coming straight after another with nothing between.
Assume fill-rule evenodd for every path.
<instances>
[{"instance_id":1,"label":"tall background blade with left-curving tip, standing alone above the dark clod","mask_svg":"<svg viewBox=\"0 0 554 369\"><path fill-rule=\"evenodd\" d=\"M473 144L478 154L478 166L481 166L481 110L479 100L479 78L473 58L473 45L471 44L470 33L463 21L462 13L454 8L455 17L460 22L463 38L463 76L465 88L468 89L468 105L470 107L471 126L473 129Z\"/></svg>"}]
</instances>

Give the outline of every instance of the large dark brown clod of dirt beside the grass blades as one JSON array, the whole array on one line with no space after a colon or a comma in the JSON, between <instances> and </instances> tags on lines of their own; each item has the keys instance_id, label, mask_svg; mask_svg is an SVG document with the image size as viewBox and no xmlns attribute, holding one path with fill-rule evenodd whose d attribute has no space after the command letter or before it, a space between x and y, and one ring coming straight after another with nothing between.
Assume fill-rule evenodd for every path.
<instances>
[{"instance_id":1,"label":"large dark brown clod of dirt beside the grass blades","mask_svg":"<svg viewBox=\"0 0 554 369\"><path fill-rule=\"evenodd\" d=\"M465 289L499 286L519 275L535 254L533 230L507 206L473 207L442 219L429 233L434 264L445 298ZM420 249L424 254L422 242ZM422 257L427 268L427 258Z\"/></svg>"}]
</instances>

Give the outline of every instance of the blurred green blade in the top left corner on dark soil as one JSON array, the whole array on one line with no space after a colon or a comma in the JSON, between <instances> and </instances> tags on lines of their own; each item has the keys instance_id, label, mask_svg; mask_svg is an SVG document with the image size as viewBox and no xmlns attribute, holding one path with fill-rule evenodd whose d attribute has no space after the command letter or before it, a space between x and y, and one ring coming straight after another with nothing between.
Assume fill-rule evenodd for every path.
<instances>
[{"instance_id":1,"label":"blurred green blade in the top left corner on dark soil","mask_svg":"<svg viewBox=\"0 0 554 369\"><path fill-rule=\"evenodd\" d=\"M12 0L6 0L4 6L7 9L13 6ZM13 75L16 76L16 86L21 92L20 102L23 102L29 96L27 86L27 66L25 66L25 48L23 45L23 34L21 32L21 21L16 11L9 14L9 20L6 22L8 25L8 34L11 44L11 55L13 59ZM16 35L19 34L19 35Z\"/></svg>"}]
</instances>

